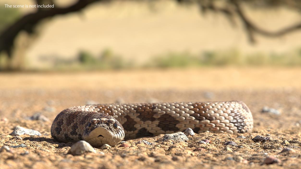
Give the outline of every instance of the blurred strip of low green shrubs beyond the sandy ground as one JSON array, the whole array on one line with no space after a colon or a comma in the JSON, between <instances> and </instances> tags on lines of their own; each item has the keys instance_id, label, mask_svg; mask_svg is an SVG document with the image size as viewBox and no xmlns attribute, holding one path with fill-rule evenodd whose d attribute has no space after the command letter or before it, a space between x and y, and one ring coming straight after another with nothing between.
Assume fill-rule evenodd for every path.
<instances>
[{"instance_id":1,"label":"blurred strip of low green shrubs beyond the sandy ground","mask_svg":"<svg viewBox=\"0 0 301 169\"><path fill-rule=\"evenodd\" d=\"M221 66L301 66L301 48L287 53L251 53L243 54L237 49L221 51L203 51L200 54L172 52L151 57L144 64L137 65L116 55L112 50L104 50L98 57L88 51L80 51L73 61L58 59L53 70L124 70L141 68L188 68Z\"/></svg>"}]
</instances>

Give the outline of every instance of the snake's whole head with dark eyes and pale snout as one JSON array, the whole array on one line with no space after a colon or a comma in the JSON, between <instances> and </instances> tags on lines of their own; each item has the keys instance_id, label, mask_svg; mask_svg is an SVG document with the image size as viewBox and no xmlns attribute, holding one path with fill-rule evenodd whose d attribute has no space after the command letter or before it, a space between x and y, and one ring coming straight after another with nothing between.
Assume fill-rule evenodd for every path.
<instances>
[{"instance_id":1,"label":"snake's whole head with dark eyes and pale snout","mask_svg":"<svg viewBox=\"0 0 301 169\"><path fill-rule=\"evenodd\" d=\"M92 146L114 146L124 139L124 129L113 117L92 119L85 128L83 139Z\"/></svg>"}]
</instances>

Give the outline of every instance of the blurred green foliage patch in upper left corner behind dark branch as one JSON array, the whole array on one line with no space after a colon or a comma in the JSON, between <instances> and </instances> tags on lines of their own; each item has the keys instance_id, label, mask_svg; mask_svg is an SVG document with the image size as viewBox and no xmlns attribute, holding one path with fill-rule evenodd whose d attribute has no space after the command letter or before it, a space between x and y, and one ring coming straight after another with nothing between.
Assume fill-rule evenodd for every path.
<instances>
[{"instance_id":1,"label":"blurred green foliage patch in upper left corner behind dark branch","mask_svg":"<svg viewBox=\"0 0 301 169\"><path fill-rule=\"evenodd\" d=\"M18 8L5 8L4 5L0 6L0 32L20 17L21 13Z\"/></svg>"}]
</instances>

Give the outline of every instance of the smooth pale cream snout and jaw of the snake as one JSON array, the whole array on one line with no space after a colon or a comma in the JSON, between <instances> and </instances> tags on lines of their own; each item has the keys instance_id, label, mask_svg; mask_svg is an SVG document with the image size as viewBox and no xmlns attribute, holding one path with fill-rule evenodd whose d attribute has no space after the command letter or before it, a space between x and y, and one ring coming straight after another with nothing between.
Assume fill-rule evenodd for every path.
<instances>
[{"instance_id":1,"label":"smooth pale cream snout and jaw of the snake","mask_svg":"<svg viewBox=\"0 0 301 169\"><path fill-rule=\"evenodd\" d=\"M114 146L124 138L124 132L117 131L117 133L113 133L104 127L96 127L93 129L88 137L85 139L92 146L102 146L104 144L109 144L110 146Z\"/></svg>"}]
</instances>

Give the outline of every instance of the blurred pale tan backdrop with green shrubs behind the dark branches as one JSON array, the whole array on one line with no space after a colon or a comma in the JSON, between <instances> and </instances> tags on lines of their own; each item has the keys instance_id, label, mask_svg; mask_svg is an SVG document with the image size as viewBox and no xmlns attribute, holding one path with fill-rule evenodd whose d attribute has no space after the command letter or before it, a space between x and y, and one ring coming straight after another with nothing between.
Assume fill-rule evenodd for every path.
<instances>
[{"instance_id":1,"label":"blurred pale tan backdrop with green shrubs behind the dark branches","mask_svg":"<svg viewBox=\"0 0 301 169\"><path fill-rule=\"evenodd\" d=\"M65 7L76 1L55 1ZM3 23L10 25L36 8L35 1L1 2ZM244 5L256 25L275 31L300 21L287 7L254 8ZM3 15L2 14L2 15ZM46 19L33 38L17 36L21 70L111 70L129 68L203 66L300 66L301 31L248 41L242 23L233 25L221 13L200 13L197 5L175 1L112 1L93 3L80 12ZM2 26L4 27L4 26ZM17 43L16 42L16 43ZM2 67L7 57L1 55ZM17 60L17 59L15 59Z\"/></svg>"}]
</instances>

